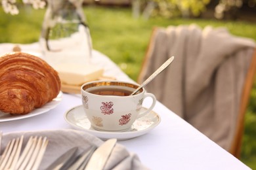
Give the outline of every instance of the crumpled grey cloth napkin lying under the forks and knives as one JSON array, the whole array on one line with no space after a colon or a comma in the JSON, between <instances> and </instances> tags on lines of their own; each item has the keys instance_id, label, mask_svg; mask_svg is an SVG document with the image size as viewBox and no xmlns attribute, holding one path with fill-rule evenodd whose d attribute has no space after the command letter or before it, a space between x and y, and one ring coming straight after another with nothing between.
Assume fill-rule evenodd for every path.
<instances>
[{"instance_id":1,"label":"crumpled grey cloth napkin lying under the forks and knives","mask_svg":"<svg viewBox=\"0 0 256 170\"><path fill-rule=\"evenodd\" d=\"M90 146L100 146L104 141L98 139L94 135L91 135L85 131L78 131L74 129L60 129L60 130L46 130L46 131L20 131L14 133L6 133L3 135L1 153L7 143L16 137L24 135L24 148L26 142L30 136L43 136L49 139L49 144L45 155L41 162L39 169L46 169L54 160L61 156L66 150L78 146L79 150L77 154L87 150ZM139 157L135 153L129 152L125 146L116 144L112 154L104 169L148 169L142 165Z\"/></svg>"}]
</instances>

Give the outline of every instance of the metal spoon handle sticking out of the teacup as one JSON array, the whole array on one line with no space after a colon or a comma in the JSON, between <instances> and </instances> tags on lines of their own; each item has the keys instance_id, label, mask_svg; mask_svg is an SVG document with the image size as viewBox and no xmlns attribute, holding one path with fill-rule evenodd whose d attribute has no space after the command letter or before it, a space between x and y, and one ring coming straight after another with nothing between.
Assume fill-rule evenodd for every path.
<instances>
[{"instance_id":1,"label":"metal spoon handle sticking out of the teacup","mask_svg":"<svg viewBox=\"0 0 256 170\"><path fill-rule=\"evenodd\" d=\"M134 95L136 92L138 92L140 90L140 88L146 86L146 84L148 84L149 82L151 82L151 80L153 80L159 73L161 73L168 65L171 64L171 62L173 61L174 56L172 56L171 58L167 59L167 61L165 61L165 63L163 63L151 76L149 76L142 84L140 84L140 86L133 92L131 93L131 95Z\"/></svg>"}]
</instances>

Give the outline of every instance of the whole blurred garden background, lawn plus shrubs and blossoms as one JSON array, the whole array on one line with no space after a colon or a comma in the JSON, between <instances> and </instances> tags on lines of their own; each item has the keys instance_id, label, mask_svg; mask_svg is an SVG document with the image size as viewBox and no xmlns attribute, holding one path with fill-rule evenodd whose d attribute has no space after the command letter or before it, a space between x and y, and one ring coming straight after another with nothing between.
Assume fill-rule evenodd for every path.
<instances>
[{"instance_id":1,"label":"whole blurred garden background, lawn plus shrubs and blossoms","mask_svg":"<svg viewBox=\"0 0 256 170\"><path fill-rule=\"evenodd\" d=\"M7 1L7 0L2 0ZM0 43L37 42L45 9L17 1L19 14L0 8ZM256 0L85 0L83 10L93 48L137 80L153 27L198 24L226 27L256 41ZM241 161L256 169L256 84L245 116Z\"/></svg>"}]
</instances>

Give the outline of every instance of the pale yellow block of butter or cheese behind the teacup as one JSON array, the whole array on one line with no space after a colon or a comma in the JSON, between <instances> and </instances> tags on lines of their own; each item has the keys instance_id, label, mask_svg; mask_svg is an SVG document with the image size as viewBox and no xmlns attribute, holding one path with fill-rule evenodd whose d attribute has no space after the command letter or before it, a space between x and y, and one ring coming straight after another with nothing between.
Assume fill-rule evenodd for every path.
<instances>
[{"instance_id":1,"label":"pale yellow block of butter or cheese behind the teacup","mask_svg":"<svg viewBox=\"0 0 256 170\"><path fill-rule=\"evenodd\" d=\"M97 80L103 75L104 69L97 65L80 65L78 63L62 63L54 66L60 80L64 84L81 85L85 82Z\"/></svg>"}]
</instances>

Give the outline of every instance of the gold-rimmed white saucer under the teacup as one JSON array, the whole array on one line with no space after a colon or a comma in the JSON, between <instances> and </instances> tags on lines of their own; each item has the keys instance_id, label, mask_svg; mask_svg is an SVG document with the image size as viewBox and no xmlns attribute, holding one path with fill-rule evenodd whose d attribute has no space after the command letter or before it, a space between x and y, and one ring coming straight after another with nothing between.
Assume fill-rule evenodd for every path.
<instances>
[{"instance_id":1,"label":"gold-rimmed white saucer under the teacup","mask_svg":"<svg viewBox=\"0 0 256 170\"><path fill-rule=\"evenodd\" d=\"M64 114L64 118L66 122L68 122L68 124L70 124L71 126L77 129L83 129L102 140L116 138L119 141L144 135L148 133L148 131L152 130L154 127L158 126L158 124L161 122L160 116L156 112L151 111L145 116L142 116L141 118L135 120L131 131L97 131L93 129L93 127L91 127L91 123L89 122L87 116L85 115L85 111L83 110L83 105L79 105L68 110Z\"/></svg>"}]
</instances>

